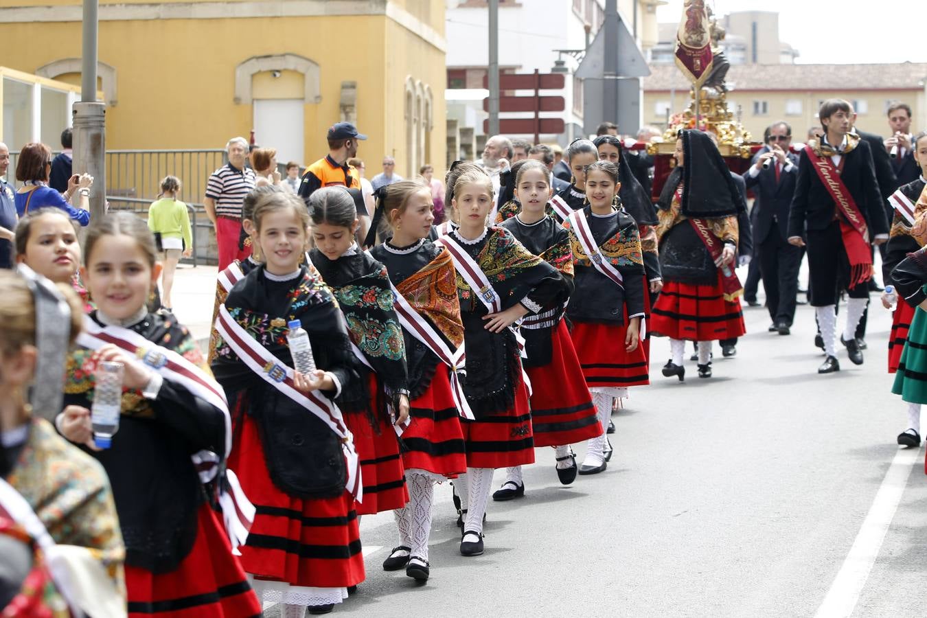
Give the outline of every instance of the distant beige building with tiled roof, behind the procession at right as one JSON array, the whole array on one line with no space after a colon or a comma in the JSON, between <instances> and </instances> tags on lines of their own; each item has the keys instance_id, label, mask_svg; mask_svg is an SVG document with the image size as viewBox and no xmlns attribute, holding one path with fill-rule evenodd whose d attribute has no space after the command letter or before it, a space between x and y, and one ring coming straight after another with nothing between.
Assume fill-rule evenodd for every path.
<instances>
[{"instance_id":1,"label":"distant beige building with tiled roof, behind the procession at right","mask_svg":"<svg viewBox=\"0 0 927 618\"><path fill-rule=\"evenodd\" d=\"M670 115L690 102L690 82L674 65L651 66L643 79L643 120L665 128ZM776 120L792 125L795 141L804 142L810 127L819 127L818 108L829 98L842 98L857 111L862 131L887 135L886 110L892 101L912 110L911 130L927 129L927 64L870 65L734 65L727 76L728 105L740 113L744 128L756 141Z\"/></svg>"}]
</instances>

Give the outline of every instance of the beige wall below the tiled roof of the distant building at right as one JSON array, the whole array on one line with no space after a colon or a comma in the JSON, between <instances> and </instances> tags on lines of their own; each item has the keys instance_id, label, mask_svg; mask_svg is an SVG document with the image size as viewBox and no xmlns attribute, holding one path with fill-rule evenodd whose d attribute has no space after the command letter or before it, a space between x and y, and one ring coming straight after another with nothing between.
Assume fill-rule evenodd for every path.
<instances>
[{"instance_id":1,"label":"beige wall below the tiled roof of the distant building at right","mask_svg":"<svg viewBox=\"0 0 927 618\"><path fill-rule=\"evenodd\" d=\"M644 122L665 127L667 116L658 110L669 106L670 114L683 111L691 101L689 90L648 91L643 97ZM752 139L762 141L763 132L776 120L785 120L792 125L796 141L804 141L807 130L819 126L818 108L820 101L828 98L843 98L857 107L857 127L862 131L880 135L888 134L888 120L885 113L888 101L904 101L913 111L912 129L927 129L927 102L923 90L844 90L844 91L733 91L728 93L728 104L735 116L741 109L741 121Z\"/></svg>"}]
</instances>

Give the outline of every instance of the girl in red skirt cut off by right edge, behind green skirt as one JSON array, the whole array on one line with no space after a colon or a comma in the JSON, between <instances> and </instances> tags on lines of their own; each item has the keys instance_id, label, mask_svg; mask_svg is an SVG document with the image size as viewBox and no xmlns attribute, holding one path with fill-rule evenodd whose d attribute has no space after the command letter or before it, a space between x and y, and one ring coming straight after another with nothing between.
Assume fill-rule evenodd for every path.
<instances>
[{"instance_id":1,"label":"girl in red skirt cut off by right edge, behind green skirt","mask_svg":"<svg viewBox=\"0 0 927 618\"><path fill-rule=\"evenodd\" d=\"M912 140L914 158L921 166L921 177L916 181L898 188L888 198L888 203L895 209L889 230L888 244L885 249L885 258L882 260L882 276L886 285L895 285L892 271L909 253L914 253L921 246L927 244L927 195L924 187L927 181L927 132L920 132ZM895 373L901 360L905 342L908 341L908 329L914 319L915 307L901 300L901 294L896 290L898 300L895 303L895 313L892 315L892 331L888 337L888 372ZM883 293L882 302L885 309L891 305ZM908 427L898 434L897 442L904 447L918 448L921 446L921 404L906 402L908 408Z\"/></svg>"}]
</instances>

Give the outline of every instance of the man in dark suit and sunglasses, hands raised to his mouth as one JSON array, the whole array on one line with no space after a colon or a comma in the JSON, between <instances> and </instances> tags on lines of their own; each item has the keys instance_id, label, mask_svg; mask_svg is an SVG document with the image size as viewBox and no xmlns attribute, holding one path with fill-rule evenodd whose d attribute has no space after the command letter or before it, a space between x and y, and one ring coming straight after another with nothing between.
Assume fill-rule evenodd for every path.
<instances>
[{"instance_id":1,"label":"man in dark suit and sunglasses, hands raised to his mouth","mask_svg":"<svg viewBox=\"0 0 927 618\"><path fill-rule=\"evenodd\" d=\"M772 325L770 332L789 334L795 317L798 295L798 269L802 249L786 239L789 207L798 178L798 157L789 152L792 127L780 121L768 128L768 150L743 174L748 189L756 194L751 217L754 219L754 245L758 246L760 273L766 289L766 308ZM768 169L764 162L770 160ZM751 264L752 266L753 264Z\"/></svg>"}]
</instances>

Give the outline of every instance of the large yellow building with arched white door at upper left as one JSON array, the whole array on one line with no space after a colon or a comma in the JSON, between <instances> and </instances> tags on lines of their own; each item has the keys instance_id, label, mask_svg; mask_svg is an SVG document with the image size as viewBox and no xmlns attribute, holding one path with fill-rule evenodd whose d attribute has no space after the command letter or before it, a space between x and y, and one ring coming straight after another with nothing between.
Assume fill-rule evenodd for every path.
<instances>
[{"instance_id":1,"label":"large yellow building with arched white door at upper left","mask_svg":"<svg viewBox=\"0 0 927 618\"><path fill-rule=\"evenodd\" d=\"M79 84L81 0L15 4L0 7L3 64ZM108 149L223 147L253 129L305 164L350 120L372 172L387 154L402 175L444 167L443 0L100 0L99 19Z\"/></svg>"}]
</instances>

